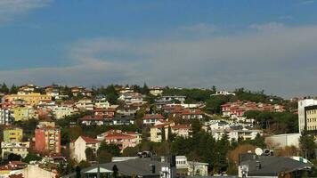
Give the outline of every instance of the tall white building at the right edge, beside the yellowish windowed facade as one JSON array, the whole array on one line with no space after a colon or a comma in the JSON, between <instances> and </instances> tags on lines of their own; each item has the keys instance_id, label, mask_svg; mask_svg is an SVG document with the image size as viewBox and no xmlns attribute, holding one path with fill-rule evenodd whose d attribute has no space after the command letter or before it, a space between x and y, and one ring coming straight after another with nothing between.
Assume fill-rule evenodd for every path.
<instances>
[{"instance_id":1,"label":"tall white building at the right edge, beside the yellowish windowed facade","mask_svg":"<svg viewBox=\"0 0 317 178\"><path fill-rule=\"evenodd\" d=\"M317 101L313 99L305 99L298 101L298 129L302 133L305 129L305 107L317 105Z\"/></svg>"}]
</instances>

